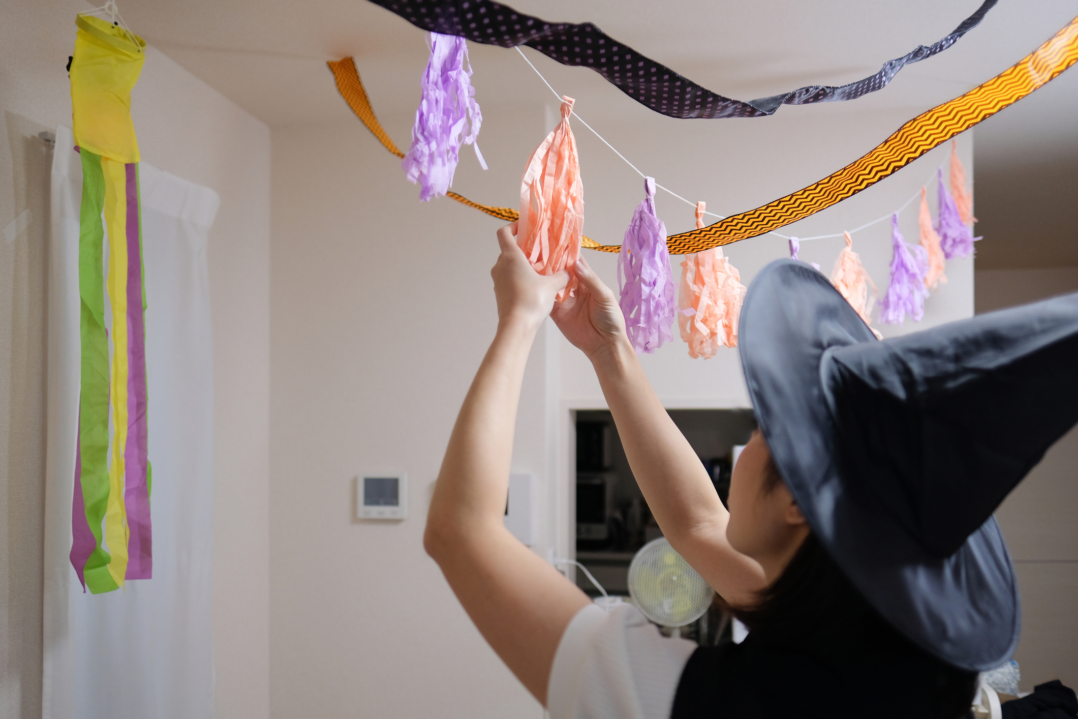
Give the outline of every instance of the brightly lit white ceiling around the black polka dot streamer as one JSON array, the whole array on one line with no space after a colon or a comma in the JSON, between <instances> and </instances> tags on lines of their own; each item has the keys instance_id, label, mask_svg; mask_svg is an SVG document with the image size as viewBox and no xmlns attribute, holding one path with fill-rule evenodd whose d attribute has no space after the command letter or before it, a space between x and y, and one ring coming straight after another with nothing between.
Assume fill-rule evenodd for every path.
<instances>
[{"instance_id":1,"label":"brightly lit white ceiling around the black polka dot streamer","mask_svg":"<svg viewBox=\"0 0 1078 719\"><path fill-rule=\"evenodd\" d=\"M874 2L871 11L865 0L514 0L512 4L544 19L591 20L708 88L747 100L812 83L863 78L918 43L942 38L980 3L903 0ZM377 108L392 112L400 103L414 110L428 54L424 33L367 0L121 0L121 4L136 32L270 125L346 117L324 66L344 55L356 57L372 97L379 96ZM853 111L851 105L927 108L945 101L1013 64L1076 13L1074 0L1001 0L952 49L909 66L890 86L845 103L843 111ZM535 78L515 53L472 44L471 54L481 102L534 100ZM533 55L544 73L591 74ZM1053 99L1056 109L1078 110L1074 93ZM619 105L628 102L623 98L603 107L618 112L623 109ZM788 108L779 112L784 110ZM602 108L589 108L591 116L602 113Z\"/></svg>"}]
</instances>

